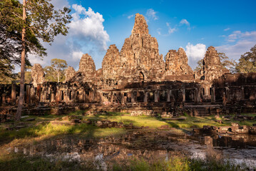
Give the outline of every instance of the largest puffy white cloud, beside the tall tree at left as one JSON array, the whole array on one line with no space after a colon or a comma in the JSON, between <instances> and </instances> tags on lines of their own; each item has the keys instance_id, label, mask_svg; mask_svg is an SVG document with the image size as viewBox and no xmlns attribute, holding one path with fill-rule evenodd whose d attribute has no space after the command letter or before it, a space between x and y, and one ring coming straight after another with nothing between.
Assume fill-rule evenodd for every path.
<instances>
[{"instance_id":1,"label":"largest puffy white cloud, beside the tall tree at left","mask_svg":"<svg viewBox=\"0 0 256 171\"><path fill-rule=\"evenodd\" d=\"M54 1L59 2L61 5L62 0ZM66 0L62 1L65 4ZM101 68L101 61L106 53L107 42L109 36L103 26L103 16L98 12L94 12L91 8L85 9L80 5L72 6L73 19L71 24L68 24L68 35L56 36L49 46L48 43L43 43L47 48L48 56L40 61L39 58L29 56L31 63L41 63L44 66L51 65L51 59L61 58L67 61L68 65L73 68L78 68L78 63L83 53L88 53L94 59L96 68ZM97 60L96 60L97 59Z\"/></svg>"}]
</instances>

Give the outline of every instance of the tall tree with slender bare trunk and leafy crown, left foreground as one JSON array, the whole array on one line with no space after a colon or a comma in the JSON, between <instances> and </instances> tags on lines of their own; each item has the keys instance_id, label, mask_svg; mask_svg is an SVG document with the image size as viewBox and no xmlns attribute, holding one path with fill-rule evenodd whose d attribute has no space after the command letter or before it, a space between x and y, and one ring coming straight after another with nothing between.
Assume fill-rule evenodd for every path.
<instances>
[{"instance_id":1,"label":"tall tree with slender bare trunk and leafy crown, left foreground","mask_svg":"<svg viewBox=\"0 0 256 171\"><path fill-rule=\"evenodd\" d=\"M70 22L70 9L64 7L62 10L54 10L51 0L23 0L21 5L19 1L2 0L1 1L1 24L7 33L13 35L9 39L18 40L16 43L21 45L16 52L21 52L21 81L18 109L16 120L21 118L22 105L24 103L24 77L25 61L27 50L30 53L36 53L38 56L44 56L45 48L41 46L39 39L51 43L58 34L66 35ZM4 11L4 12L3 12ZM15 35L17 34L17 36Z\"/></svg>"}]
</instances>

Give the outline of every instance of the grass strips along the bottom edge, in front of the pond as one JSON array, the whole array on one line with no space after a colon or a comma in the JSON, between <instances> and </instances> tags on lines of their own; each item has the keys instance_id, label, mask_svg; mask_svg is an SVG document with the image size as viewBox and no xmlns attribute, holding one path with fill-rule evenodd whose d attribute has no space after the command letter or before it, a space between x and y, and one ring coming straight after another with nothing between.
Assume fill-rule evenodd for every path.
<instances>
[{"instance_id":1,"label":"grass strips along the bottom edge, in front of the pond","mask_svg":"<svg viewBox=\"0 0 256 171\"><path fill-rule=\"evenodd\" d=\"M101 170L96 169L93 161L76 162L67 160L51 161L43 157L25 157L24 155L0 154L1 170ZM130 157L127 160L108 162L107 170L113 171L192 171L192 170L245 170L245 166L235 165L230 161L200 160L175 155L169 160L145 160L144 158Z\"/></svg>"}]
</instances>

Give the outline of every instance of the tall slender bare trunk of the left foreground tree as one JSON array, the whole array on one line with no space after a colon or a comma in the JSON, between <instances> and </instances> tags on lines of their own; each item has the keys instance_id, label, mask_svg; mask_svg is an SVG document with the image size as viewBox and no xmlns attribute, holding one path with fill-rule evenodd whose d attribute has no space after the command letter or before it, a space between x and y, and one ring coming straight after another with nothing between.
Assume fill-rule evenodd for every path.
<instances>
[{"instance_id":1,"label":"tall slender bare trunk of the left foreground tree","mask_svg":"<svg viewBox=\"0 0 256 171\"><path fill-rule=\"evenodd\" d=\"M21 110L22 105L24 103L24 83L25 83L25 55L26 55L26 42L25 42L25 36L26 36L26 0L23 0L23 28L22 28L22 51L21 51L21 82L20 82L20 93L19 93L19 103L18 103L18 109L16 112L15 120L19 121L21 120Z\"/></svg>"}]
</instances>

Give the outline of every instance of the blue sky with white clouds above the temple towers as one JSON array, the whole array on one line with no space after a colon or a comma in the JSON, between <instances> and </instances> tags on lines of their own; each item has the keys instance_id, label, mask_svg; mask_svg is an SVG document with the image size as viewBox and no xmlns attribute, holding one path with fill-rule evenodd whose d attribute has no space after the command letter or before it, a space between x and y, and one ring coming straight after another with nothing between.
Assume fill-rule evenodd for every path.
<instances>
[{"instance_id":1,"label":"blue sky with white clouds above the temple towers","mask_svg":"<svg viewBox=\"0 0 256 171\"><path fill-rule=\"evenodd\" d=\"M83 53L89 53L101 68L108 46L119 51L130 36L136 13L148 21L149 33L157 38L160 53L183 47L189 64L204 57L208 46L233 59L256 44L256 1L76 1L52 0L56 8L69 6L73 21L68 36L57 36L52 46L45 44L48 56L32 63L49 65L62 58L78 70Z\"/></svg>"}]
</instances>

